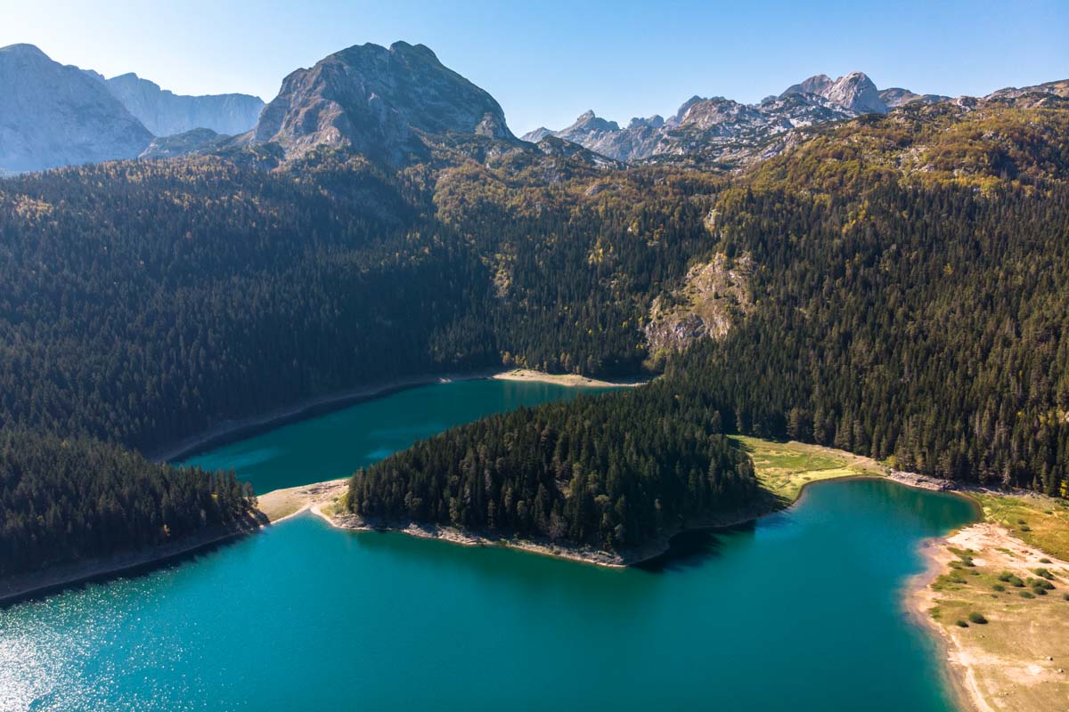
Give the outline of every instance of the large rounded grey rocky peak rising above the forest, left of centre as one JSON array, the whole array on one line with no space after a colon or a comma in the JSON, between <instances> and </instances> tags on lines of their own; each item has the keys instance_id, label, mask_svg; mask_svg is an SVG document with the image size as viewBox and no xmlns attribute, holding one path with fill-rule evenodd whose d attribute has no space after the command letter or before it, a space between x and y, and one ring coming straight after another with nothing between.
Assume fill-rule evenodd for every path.
<instances>
[{"instance_id":1,"label":"large rounded grey rocky peak rising above the forest, left of centre","mask_svg":"<svg viewBox=\"0 0 1069 712\"><path fill-rule=\"evenodd\" d=\"M252 132L288 155L347 147L404 163L424 136L451 132L514 141L494 98L445 67L422 45L358 45L297 69L282 81Z\"/></svg>"}]
</instances>

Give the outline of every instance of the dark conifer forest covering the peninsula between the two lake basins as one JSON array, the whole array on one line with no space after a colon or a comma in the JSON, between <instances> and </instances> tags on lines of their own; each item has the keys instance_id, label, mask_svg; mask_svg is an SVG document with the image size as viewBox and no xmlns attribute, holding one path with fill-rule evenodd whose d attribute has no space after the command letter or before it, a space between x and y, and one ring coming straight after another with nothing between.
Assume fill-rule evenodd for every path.
<instances>
[{"instance_id":1,"label":"dark conifer forest covering the peninsula between the two lake basins","mask_svg":"<svg viewBox=\"0 0 1069 712\"><path fill-rule=\"evenodd\" d=\"M753 504L749 457L719 433L709 398L657 381L453 428L357 472L346 506L370 521L633 547Z\"/></svg>"}]
</instances>

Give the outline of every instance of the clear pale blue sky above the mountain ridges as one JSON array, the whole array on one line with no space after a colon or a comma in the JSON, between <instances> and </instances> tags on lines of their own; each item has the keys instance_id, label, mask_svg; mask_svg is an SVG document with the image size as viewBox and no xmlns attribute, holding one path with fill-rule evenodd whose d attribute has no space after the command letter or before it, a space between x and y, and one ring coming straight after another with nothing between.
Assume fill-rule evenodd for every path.
<instances>
[{"instance_id":1,"label":"clear pale blue sky above the mountain ridges","mask_svg":"<svg viewBox=\"0 0 1069 712\"><path fill-rule=\"evenodd\" d=\"M431 47L522 133L587 109L667 115L694 94L756 101L820 73L950 95L1069 78L1069 0L0 0L0 46L177 93L269 100L294 68L396 39Z\"/></svg>"}]
</instances>

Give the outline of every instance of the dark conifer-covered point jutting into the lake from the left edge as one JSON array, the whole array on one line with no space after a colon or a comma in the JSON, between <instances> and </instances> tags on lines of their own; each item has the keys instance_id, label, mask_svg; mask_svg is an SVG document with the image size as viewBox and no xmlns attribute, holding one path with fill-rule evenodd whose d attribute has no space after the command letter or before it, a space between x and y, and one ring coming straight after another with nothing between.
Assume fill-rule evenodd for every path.
<instances>
[{"instance_id":1,"label":"dark conifer-covered point jutting into the lake from the left edge","mask_svg":"<svg viewBox=\"0 0 1069 712\"><path fill-rule=\"evenodd\" d=\"M248 517L233 473L153 464L118 445L0 431L0 575L165 543Z\"/></svg>"}]
</instances>

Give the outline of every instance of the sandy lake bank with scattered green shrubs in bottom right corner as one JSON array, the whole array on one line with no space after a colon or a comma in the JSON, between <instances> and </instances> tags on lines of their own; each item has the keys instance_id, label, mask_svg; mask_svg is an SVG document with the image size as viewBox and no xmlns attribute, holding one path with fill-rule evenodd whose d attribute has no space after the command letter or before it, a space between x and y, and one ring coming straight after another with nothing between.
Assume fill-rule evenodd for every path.
<instances>
[{"instance_id":1,"label":"sandy lake bank with scattered green shrubs in bottom right corner","mask_svg":"<svg viewBox=\"0 0 1069 712\"><path fill-rule=\"evenodd\" d=\"M1035 494L970 496L986 521L923 548L928 566L910 587L910 610L941 642L963 707L1062 709L1069 701L1069 561L1057 555L1069 512ZM1057 521L1033 527L1027 518Z\"/></svg>"}]
</instances>

